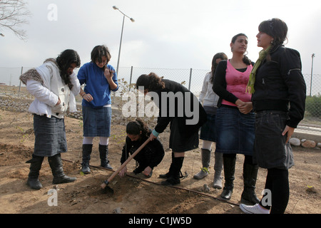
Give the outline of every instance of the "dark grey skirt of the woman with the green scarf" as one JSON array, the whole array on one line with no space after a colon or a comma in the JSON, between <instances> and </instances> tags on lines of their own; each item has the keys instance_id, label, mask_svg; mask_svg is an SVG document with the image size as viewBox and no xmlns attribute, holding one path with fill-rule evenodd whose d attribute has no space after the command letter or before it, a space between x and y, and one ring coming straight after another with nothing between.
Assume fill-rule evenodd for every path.
<instances>
[{"instance_id":1,"label":"dark grey skirt of the woman with the green scarf","mask_svg":"<svg viewBox=\"0 0 321 228\"><path fill-rule=\"evenodd\" d=\"M292 147L282 135L288 115L282 111L263 110L255 115L253 161L265 169L287 170L294 165Z\"/></svg>"}]
</instances>

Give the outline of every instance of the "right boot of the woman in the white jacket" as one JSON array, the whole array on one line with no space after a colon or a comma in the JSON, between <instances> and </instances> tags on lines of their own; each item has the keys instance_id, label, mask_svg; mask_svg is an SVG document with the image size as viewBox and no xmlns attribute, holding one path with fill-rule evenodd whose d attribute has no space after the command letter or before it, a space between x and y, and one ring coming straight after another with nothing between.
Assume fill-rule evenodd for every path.
<instances>
[{"instance_id":1,"label":"right boot of the woman in the white jacket","mask_svg":"<svg viewBox=\"0 0 321 228\"><path fill-rule=\"evenodd\" d=\"M54 175L54 180L52 181L54 185L74 182L77 179L76 177L68 177L63 173L61 154L48 157L48 161L51 167L51 172Z\"/></svg>"}]
</instances>

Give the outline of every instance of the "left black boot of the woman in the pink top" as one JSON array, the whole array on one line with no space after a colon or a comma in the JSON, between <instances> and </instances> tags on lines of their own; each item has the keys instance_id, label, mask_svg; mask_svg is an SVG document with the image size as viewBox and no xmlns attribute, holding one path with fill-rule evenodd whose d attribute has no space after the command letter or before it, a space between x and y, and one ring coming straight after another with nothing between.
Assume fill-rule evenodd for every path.
<instances>
[{"instance_id":1,"label":"left black boot of the woman in the pink top","mask_svg":"<svg viewBox=\"0 0 321 228\"><path fill-rule=\"evenodd\" d=\"M223 199L230 199L232 197L233 188L234 188L234 173L235 173L235 157L223 156L223 168L224 168L224 178L225 184L223 192L220 197Z\"/></svg>"}]
</instances>

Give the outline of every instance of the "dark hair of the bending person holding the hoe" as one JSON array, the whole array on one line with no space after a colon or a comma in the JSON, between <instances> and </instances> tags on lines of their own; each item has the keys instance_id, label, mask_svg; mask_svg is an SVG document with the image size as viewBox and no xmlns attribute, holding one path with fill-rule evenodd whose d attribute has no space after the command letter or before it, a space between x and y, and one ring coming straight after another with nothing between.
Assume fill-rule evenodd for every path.
<instances>
[{"instance_id":1,"label":"dark hair of the bending person holding the hoe","mask_svg":"<svg viewBox=\"0 0 321 228\"><path fill-rule=\"evenodd\" d=\"M143 74L138 77L136 88L138 89L139 86L143 86L144 89L148 89L148 91L157 91L165 88L165 83L162 81L162 78L156 75L156 73L150 73L148 75Z\"/></svg>"}]
</instances>

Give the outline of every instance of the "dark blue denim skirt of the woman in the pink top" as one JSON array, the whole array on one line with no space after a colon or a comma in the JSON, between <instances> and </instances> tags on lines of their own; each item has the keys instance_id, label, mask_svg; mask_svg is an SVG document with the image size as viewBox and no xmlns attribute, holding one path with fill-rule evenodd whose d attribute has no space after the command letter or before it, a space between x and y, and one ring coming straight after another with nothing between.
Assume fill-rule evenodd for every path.
<instances>
[{"instance_id":1,"label":"dark blue denim skirt of the woman in the pink top","mask_svg":"<svg viewBox=\"0 0 321 228\"><path fill-rule=\"evenodd\" d=\"M238 108L222 105L216 113L215 152L253 155L255 113L240 113Z\"/></svg>"}]
</instances>

